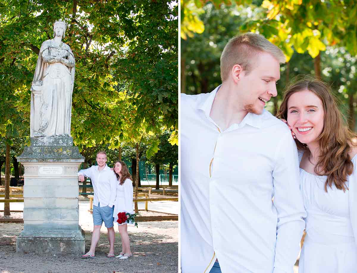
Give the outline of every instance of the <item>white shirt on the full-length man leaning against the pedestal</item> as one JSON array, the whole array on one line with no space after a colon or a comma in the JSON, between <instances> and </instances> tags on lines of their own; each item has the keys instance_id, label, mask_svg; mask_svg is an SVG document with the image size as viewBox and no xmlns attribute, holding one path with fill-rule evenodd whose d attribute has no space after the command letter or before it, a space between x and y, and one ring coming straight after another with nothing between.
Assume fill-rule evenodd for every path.
<instances>
[{"instance_id":1,"label":"white shirt on the full-length man leaning against the pedestal","mask_svg":"<svg viewBox=\"0 0 357 273\"><path fill-rule=\"evenodd\" d=\"M92 180L94 189L93 205L101 207L112 207L115 203L117 179L114 171L107 165L100 172L99 166L92 166L85 170L80 170L78 175L82 174Z\"/></svg>"}]
</instances>

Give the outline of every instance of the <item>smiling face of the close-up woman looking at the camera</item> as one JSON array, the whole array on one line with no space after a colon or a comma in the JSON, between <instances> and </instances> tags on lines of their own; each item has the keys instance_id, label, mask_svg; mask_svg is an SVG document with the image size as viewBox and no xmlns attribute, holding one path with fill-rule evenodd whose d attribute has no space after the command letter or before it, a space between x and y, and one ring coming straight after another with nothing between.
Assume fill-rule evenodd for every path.
<instances>
[{"instance_id":1,"label":"smiling face of the close-up woman looking at the camera","mask_svg":"<svg viewBox=\"0 0 357 273\"><path fill-rule=\"evenodd\" d=\"M310 90L298 91L290 96L287 103L287 122L298 141L317 141L323 130L322 101Z\"/></svg>"}]
</instances>

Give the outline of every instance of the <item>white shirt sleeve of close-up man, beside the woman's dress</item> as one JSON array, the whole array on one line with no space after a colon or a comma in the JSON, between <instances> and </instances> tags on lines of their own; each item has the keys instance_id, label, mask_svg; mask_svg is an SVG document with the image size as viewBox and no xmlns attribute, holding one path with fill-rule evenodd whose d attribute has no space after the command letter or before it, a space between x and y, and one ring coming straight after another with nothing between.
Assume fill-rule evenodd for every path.
<instances>
[{"instance_id":1,"label":"white shirt sleeve of close-up man, beside the woman's dress","mask_svg":"<svg viewBox=\"0 0 357 273\"><path fill-rule=\"evenodd\" d=\"M277 240L273 273L293 273L305 229L306 211L300 194L298 153L290 131L282 134L273 169Z\"/></svg>"}]
</instances>

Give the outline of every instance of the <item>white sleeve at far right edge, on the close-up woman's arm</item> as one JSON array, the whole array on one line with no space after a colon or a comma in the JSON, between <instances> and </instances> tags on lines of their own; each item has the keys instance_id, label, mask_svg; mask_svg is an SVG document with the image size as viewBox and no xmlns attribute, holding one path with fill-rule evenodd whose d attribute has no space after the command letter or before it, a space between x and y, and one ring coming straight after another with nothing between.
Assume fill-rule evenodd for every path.
<instances>
[{"instance_id":1,"label":"white sleeve at far right edge, on the close-up woman's arm","mask_svg":"<svg viewBox=\"0 0 357 273\"><path fill-rule=\"evenodd\" d=\"M353 173L348 178L348 205L353 235L357 238L357 156L353 157Z\"/></svg>"}]
</instances>

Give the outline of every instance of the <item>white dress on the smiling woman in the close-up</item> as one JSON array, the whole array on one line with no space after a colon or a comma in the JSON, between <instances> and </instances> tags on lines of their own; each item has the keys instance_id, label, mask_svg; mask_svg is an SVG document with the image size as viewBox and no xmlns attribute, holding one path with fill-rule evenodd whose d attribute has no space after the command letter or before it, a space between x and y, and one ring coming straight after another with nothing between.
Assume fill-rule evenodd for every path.
<instances>
[{"instance_id":1,"label":"white dress on the smiling woman in the close-up","mask_svg":"<svg viewBox=\"0 0 357 273\"><path fill-rule=\"evenodd\" d=\"M303 152L299 151L299 161ZM307 212L306 237L299 273L357 272L357 156L347 178L349 190L332 185L325 191L326 176L300 169L300 190Z\"/></svg>"}]
</instances>

